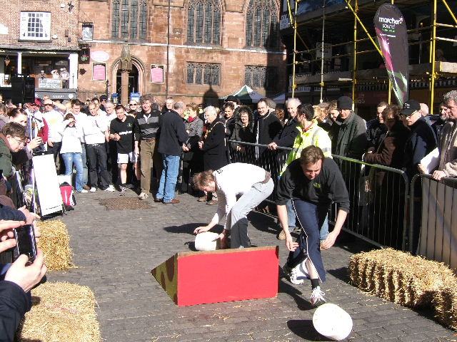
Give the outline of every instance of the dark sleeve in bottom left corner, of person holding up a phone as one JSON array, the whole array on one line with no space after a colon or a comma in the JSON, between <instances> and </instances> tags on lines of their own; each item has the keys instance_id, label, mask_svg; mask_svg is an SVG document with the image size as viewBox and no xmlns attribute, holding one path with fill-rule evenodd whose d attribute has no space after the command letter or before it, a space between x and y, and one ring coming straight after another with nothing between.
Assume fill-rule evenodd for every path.
<instances>
[{"instance_id":1,"label":"dark sleeve in bottom left corner, of person holding up a phone","mask_svg":"<svg viewBox=\"0 0 457 342\"><path fill-rule=\"evenodd\" d=\"M0 341L14 341L21 318L31 309L31 300L11 281L0 281Z\"/></svg>"}]
</instances>

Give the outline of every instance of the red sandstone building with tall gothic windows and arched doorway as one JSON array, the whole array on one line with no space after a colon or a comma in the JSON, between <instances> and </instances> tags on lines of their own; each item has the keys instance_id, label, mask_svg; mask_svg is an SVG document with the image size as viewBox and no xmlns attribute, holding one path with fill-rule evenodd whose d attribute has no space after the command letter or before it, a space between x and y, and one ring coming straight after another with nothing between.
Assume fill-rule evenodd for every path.
<instances>
[{"instance_id":1,"label":"red sandstone building with tall gothic windows and arched doorway","mask_svg":"<svg viewBox=\"0 0 457 342\"><path fill-rule=\"evenodd\" d=\"M125 41L133 65L129 93L196 103L217 103L245 83L279 93L286 56L278 23L276 0L80 0L79 32L87 36L80 34L79 43L91 58L80 58L79 97L121 95Z\"/></svg>"}]
</instances>

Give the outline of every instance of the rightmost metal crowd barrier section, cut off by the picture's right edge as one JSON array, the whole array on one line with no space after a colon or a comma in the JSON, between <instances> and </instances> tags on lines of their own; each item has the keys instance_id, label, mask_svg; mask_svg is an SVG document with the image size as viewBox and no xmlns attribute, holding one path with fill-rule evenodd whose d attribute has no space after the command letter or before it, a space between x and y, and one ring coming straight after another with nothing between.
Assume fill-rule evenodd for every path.
<instances>
[{"instance_id":1,"label":"rightmost metal crowd barrier section, cut off by the picture's right edge","mask_svg":"<svg viewBox=\"0 0 457 342\"><path fill-rule=\"evenodd\" d=\"M421 180L421 193L416 182ZM408 247L414 254L457 269L457 178L433 180L416 175L411 180Z\"/></svg>"}]
</instances>

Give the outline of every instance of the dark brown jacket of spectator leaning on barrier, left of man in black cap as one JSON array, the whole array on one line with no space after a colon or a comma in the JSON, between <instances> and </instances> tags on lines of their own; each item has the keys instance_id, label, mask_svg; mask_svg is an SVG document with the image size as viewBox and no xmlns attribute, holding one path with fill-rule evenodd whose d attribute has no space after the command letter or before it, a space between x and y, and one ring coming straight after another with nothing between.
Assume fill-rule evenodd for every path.
<instances>
[{"instance_id":1,"label":"dark brown jacket of spectator leaning on barrier, left of man in black cap","mask_svg":"<svg viewBox=\"0 0 457 342\"><path fill-rule=\"evenodd\" d=\"M410 132L401 121L393 125L392 130L386 133L378 149L373 153L365 153L363 161L370 164L384 165L401 169L404 159L404 148ZM376 171L376 185L381 186L386 171Z\"/></svg>"}]
</instances>

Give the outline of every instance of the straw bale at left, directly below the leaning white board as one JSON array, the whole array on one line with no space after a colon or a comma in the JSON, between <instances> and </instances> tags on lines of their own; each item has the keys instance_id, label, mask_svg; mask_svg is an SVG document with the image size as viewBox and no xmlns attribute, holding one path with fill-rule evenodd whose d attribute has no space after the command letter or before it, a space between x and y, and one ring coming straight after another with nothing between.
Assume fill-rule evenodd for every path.
<instances>
[{"instance_id":1,"label":"straw bale at left, directly below the leaning white board","mask_svg":"<svg viewBox=\"0 0 457 342\"><path fill-rule=\"evenodd\" d=\"M43 250L44 262L49 271L62 271L74 267L71 262L70 237L66 224L60 220L37 223L41 237L38 247Z\"/></svg>"}]
</instances>

